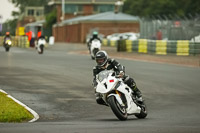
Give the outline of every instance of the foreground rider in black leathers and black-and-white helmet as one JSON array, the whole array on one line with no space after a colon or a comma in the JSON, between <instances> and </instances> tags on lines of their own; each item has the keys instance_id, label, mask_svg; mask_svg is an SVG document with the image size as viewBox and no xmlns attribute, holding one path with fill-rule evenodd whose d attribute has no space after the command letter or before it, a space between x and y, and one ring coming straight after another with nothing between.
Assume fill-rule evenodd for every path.
<instances>
[{"instance_id":1,"label":"foreground rider in black leathers and black-and-white helmet","mask_svg":"<svg viewBox=\"0 0 200 133\"><path fill-rule=\"evenodd\" d=\"M138 103L143 104L143 99L142 99L142 94L141 91L138 89L136 86L135 81L133 78L130 78L128 75L125 75L125 67L122 66L119 62L117 62L115 59L108 58L108 55L105 51L99 51L96 54L95 57L97 66L93 68L93 86L94 89L96 90L97 82L96 82L96 75L100 73L103 70L111 70L113 69L118 77L122 78L124 83L127 84L132 90L133 90L133 95L136 96L136 100ZM100 97L99 93L96 93L96 102L98 104L103 104L105 105L103 99Z\"/></svg>"}]
</instances>

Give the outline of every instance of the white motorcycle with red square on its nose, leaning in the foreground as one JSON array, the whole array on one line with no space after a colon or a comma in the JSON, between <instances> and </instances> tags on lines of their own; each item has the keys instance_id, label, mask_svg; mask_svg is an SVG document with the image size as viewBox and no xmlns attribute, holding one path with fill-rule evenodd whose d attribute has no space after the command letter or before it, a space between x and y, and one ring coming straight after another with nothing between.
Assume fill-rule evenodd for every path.
<instances>
[{"instance_id":1,"label":"white motorcycle with red square on its nose, leaning in the foreground","mask_svg":"<svg viewBox=\"0 0 200 133\"><path fill-rule=\"evenodd\" d=\"M137 102L132 95L132 89L118 78L113 70L101 71L96 81L96 92L119 120L126 120L128 115L135 115L139 119L146 118L146 105Z\"/></svg>"}]
</instances>

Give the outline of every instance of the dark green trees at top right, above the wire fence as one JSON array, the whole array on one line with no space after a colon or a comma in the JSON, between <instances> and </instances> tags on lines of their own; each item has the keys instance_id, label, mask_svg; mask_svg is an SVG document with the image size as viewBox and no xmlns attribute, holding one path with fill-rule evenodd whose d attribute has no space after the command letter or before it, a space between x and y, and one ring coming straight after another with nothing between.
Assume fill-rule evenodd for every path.
<instances>
[{"instance_id":1,"label":"dark green trees at top right, above the wire fence","mask_svg":"<svg viewBox=\"0 0 200 133\"><path fill-rule=\"evenodd\" d=\"M123 11L132 15L179 16L200 13L200 1L197 0L126 0Z\"/></svg>"}]
</instances>

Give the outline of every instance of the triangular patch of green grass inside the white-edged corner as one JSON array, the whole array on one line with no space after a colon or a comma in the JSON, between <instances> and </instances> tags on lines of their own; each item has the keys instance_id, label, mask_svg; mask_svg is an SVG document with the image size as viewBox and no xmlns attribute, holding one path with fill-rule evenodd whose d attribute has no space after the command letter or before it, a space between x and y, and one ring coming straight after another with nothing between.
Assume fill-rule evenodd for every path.
<instances>
[{"instance_id":1,"label":"triangular patch of green grass inside the white-edged corner","mask_svg":"<svg viewBox=\"0 0 200 133\"><path fill-rule=\"evenodd\" d=\"M26 122L33 118L23 106L0 92L0 122Z\"/></svg>"}]
</instances>

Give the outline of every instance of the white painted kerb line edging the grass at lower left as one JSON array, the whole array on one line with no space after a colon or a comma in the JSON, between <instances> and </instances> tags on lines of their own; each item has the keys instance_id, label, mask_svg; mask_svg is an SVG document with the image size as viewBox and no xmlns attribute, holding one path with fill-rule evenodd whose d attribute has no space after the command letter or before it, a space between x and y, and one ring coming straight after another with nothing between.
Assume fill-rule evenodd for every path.
<instances>
[{"instance_id":1,"label":"white painted kerb line edging the grass at lower left","mask_svg":"<svg viewBox=\"0 0 200 133\"><path fill-rule=\"evenodd\" d=\"M23 106L26 110L28 110L34 116L34 118L32 120L30 120L29 122L35 122L36 120L39 119L39 115L34 110L32 110L31 108L29 108L28 106L26 106L25 104L23 104L22 102L20 102L19 100L15 99L14 97L8 95L8 93L6 93L4 90L0 89L0 92L7 94L7 97L11 98L16 103L18 103L21 106Z\"/></svg>"}]
</instances>

